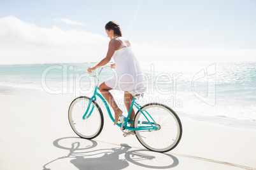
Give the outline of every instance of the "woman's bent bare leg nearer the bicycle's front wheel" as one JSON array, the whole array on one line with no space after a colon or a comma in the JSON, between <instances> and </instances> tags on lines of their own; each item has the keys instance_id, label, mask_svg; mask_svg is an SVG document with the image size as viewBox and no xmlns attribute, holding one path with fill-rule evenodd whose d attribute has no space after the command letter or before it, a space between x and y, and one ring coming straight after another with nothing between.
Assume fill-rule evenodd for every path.
<instances>
[{"instance_id":1,"label":"woman's bent bare leg nearer the bicycle's front wheel","mask_svg":"<svg viewBox=\"0 0 256 170\"><path fill-rule=\"evenodd\" d=\"M113 96L110 93L110 90L112 88L108 87L105 82L101 83L101 85L99 85L99 91L101 91L101 94L103 95L103 97L105 98L106 101L108 101L108 103L110 104L110 106L113 108L114 112L115 112L115 122L114 125L117 124L118 122L118 117L120 115L122 115L123 111L120 110L120 108L118 107L117 103L115 102Z\"/></svg>"}]
</instances>

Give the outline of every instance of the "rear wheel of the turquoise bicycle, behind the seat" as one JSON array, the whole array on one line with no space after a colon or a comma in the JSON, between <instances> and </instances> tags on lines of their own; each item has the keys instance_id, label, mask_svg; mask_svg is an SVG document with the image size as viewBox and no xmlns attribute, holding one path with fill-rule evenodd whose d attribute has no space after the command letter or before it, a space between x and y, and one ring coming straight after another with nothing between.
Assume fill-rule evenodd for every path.
<instances>
[{"instance_id":1,"label":"rear wheel of the turquoise bicycle, behind the seat","mask_svg":"<svg viewBox=\"0 0 256 170\"><path fill-rule=\"evenodd\" d=\"M140 109L145 115L138 110L134 118L134 128L157 126L157 130L135 131L139 142L145 148L156 152L167 152L175 148L182 135L182 126L178 115L171 108L160 103L148 103Z\"/></svg>"}]
</instances>

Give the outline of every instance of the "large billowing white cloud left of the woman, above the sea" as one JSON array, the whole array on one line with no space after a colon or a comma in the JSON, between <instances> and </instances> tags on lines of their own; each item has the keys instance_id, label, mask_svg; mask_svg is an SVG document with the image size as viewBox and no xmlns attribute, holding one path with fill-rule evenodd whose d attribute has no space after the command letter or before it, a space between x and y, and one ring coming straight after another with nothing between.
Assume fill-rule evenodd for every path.
<instances>
[{"instance_id":1,"label":"large billowing white cloud left of the woman, above the sea","mask_svg":"<svg viewBox=\"0 0 256 170\"><path fill-rule=\"evenodd\" d=\"M15 16L0 18L0 64L92 62L104 58L108 41L83 30L41 28Z\"/></svg>"}]
</instances>

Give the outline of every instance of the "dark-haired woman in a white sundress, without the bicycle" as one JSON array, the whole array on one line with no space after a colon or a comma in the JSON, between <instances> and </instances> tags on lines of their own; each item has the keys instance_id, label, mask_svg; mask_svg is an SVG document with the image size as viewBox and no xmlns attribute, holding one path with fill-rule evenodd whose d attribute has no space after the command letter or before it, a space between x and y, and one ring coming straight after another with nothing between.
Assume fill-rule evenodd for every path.
<instances>
[{"instance_id":1,"label":"dark-haired woman in a white sundress, without the bicycle","mask_svg":"<svg viewBox=\"0 0 256 170\"><path fill-rule=\"evenodd\" d=\"M110 90L118 89L120 91L124 91L124 103L127 108L127 112L129 112L134 90L145 89L145 79L141 73L139 63L132 52L131 44L127 39L122 37L122 32L118 23L113 21L108 22L105 25L105 30L108 37L110 37L108 53L96 66L89 67L88 72L91 73L98 67L106 65L106 63L110 62L111 58L115 61L114 64L111 64L111 69L116 69L117 75L110 77L99 86L99 91L101 91L101 94L115 112L115 125L118 122L118 117L122 115L123 112L117 106ZM134 119L134 116L135 112L132 108L129 119Z\"/></svg>"}]
</instances>

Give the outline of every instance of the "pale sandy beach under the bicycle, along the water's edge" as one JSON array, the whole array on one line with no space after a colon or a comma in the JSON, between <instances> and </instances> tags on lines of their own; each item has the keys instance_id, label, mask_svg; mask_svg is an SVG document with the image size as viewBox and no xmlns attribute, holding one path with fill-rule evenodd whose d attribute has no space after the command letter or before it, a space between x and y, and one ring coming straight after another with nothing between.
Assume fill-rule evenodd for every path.
<instances>
[{"instance_id":1,"label":"pale sandy beach under the bicycle, along the water's edge","mask_svg":"<svg viewBox=\"0 0 256 170\"><path fill-rule=\"evenodd\" d=\"M179 145L164 154L124 138L106 110L94 140L78 138L68 122L71 96L0 95L0 169L256 169L256 122L178 113Z\"/></svg>"}]
</instances>

